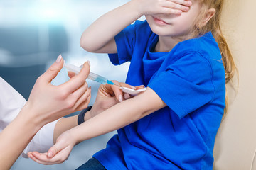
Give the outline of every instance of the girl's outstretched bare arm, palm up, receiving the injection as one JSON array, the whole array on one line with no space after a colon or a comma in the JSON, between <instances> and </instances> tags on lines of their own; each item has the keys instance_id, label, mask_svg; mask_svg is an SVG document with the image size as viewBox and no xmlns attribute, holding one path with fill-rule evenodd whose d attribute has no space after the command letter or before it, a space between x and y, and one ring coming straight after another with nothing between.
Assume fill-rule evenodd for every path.
<instances>
[{"instance_id":1,"label":"girl's outstretched bare arm, palm up, receiving the injection","mask_svg":"<svg viewBox=\"0 0 256 170\"><path fill-rule=\"evenodd\" d=\"M33 152L29 157L40 164L62 163L78 142L122 128L164 106L164 101L152 89L147 88L142 94L117 103L85 123L63 132L48 153Z\"/></svg>"}]
</instances>

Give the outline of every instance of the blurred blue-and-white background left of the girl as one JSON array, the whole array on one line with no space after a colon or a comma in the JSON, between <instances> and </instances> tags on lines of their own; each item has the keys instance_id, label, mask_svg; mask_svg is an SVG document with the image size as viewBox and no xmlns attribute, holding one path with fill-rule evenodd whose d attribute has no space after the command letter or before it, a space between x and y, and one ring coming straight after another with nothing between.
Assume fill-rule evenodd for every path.
<instances>
[{"instance_id":1,"label":"blurred blue-and-white background left of the girl","mask_svg":"<svg viewBox=\"0 0 256 170\"><path fill-rule=\"evenodd\" d=\"M79 45L83 30L102 14L127 0L0 0L0 77L28 99L37 77L55 62L58 55L80 66L90 60L91 71L107 79L125 81L129 63L113 66L106 54L92 54ZM104 29L104 28L102 28ZM62 69L52 84L68 81ZM92 86L95 101L100 84ZM0 92L1 93L1 92ZM77 114L77 113L74 113ZM115 132L95 137L75 146L68 161L45 166L19 158L11 169L75 169L105 147Z\"/></svg>"}]
</instances>

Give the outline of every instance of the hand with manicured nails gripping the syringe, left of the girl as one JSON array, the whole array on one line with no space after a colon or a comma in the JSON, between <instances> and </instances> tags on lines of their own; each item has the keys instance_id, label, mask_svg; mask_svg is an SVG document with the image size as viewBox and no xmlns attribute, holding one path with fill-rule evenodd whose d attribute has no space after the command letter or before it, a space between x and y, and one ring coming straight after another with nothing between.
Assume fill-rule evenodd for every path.
<instances>
[{"instance_id":1,"label":"hand with manicured nails gripping the syringe, left of the girl","mask_svg":"<svg viewBox=\"0 0 256 170\"><path fill-rule=\"evenodd\" d=\"M45 125L65 115L80 111L90 102L91 89L85 79L90 72L90 63L85 62L80 73L59 86L50 82L63 67L63 58L58 57L50 68L38 77L25 108L33 114L38 125Z\"/></svg>"}]
</instances>

